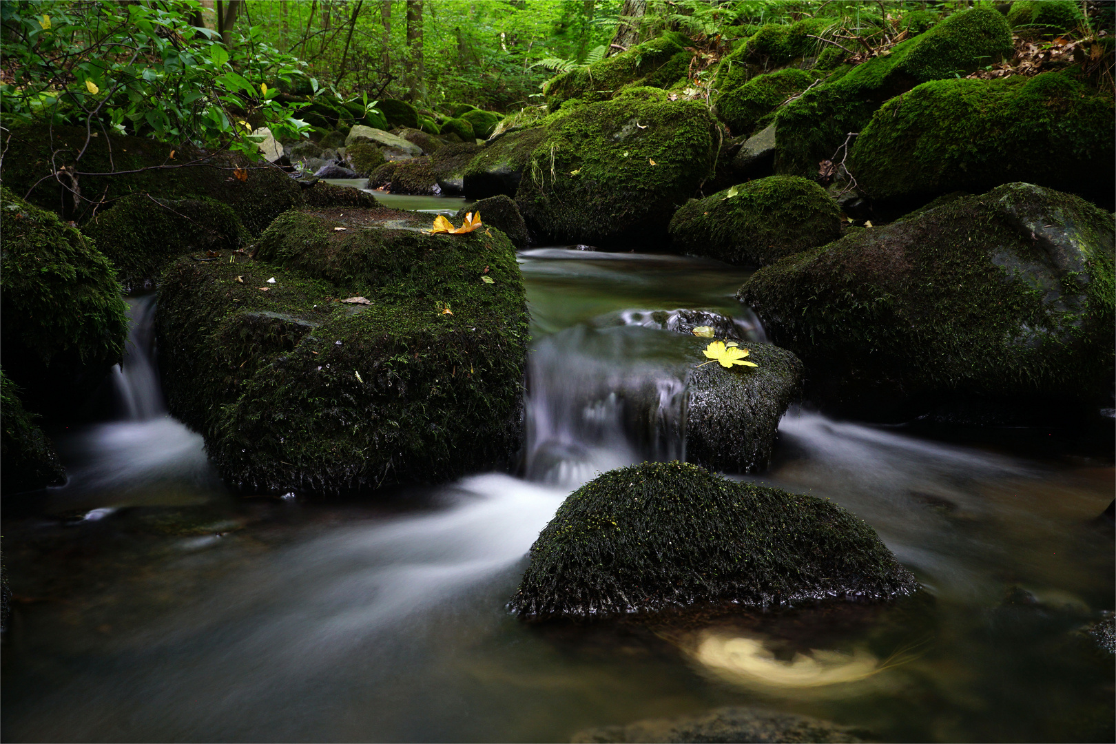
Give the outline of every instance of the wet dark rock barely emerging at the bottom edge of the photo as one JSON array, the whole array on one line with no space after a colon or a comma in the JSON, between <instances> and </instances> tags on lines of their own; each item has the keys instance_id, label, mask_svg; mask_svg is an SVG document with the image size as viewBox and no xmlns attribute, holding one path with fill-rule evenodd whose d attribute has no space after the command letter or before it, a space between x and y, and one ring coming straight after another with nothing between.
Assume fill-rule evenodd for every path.
<instances>
[{"instance_id":1,"label":"wet dark rock barely emerging at the bottom edge of the photo","mask_svg":"<svg viewBox=\"0 0 1116 744\"><path fill-rule=\"evenodd\" d=\"M574 734L574 744L624 742L863 742L865 732L828 721L762 708L727 707L682 718L650 718L626 726L602 726ZM869 735L870 736L870 735ZM870 741L870 740L869 740Z\"/></svg>"}]
</instances>

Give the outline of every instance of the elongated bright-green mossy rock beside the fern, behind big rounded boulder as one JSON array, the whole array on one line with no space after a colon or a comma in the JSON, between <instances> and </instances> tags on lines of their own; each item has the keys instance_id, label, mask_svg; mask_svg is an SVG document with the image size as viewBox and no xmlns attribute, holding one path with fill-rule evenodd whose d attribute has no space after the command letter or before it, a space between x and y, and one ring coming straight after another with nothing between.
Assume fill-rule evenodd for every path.
<instances>
[{"instance_id":1,"label":"elongated bright-green mossy rock beside the fern, behind big rounded boulder","mask_svg":"<svg viewBox=\"0 0 1116 744\"><path fill-rule=\"evenodd\" d=\"M608 100L625 85L668 88L686 77L693 42L674 31L644 41L614 57L606 57L587 67L562 73L543 89L547 107L556 112L562 103L578 99L585 103Z\"/></svg>"}]
</instances>

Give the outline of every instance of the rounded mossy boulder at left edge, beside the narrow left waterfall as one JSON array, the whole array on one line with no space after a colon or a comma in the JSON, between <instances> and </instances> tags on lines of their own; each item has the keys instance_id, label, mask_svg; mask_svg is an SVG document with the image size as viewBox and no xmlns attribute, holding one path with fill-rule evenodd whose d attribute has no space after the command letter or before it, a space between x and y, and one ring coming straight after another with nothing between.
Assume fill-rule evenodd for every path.
<instances>
[{"instance_id":1,"label":"rounded mossy boulder at left edge, beside the narrow left waterfall","mask_svg":"<svg viewBox=\"0 0 1116 744\"><path fill-rule=\"evenodd\" d=\"M57 418L121 360L127 307L112 262L76 228L0 189L0 347L28 408Z\"/></svg>"}]
</instances>

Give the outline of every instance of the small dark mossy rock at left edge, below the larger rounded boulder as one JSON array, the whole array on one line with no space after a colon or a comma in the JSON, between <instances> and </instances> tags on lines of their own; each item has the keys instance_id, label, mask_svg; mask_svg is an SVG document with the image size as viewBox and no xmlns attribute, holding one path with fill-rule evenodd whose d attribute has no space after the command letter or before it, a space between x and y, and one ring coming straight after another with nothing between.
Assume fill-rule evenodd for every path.
<instances>
[{"instance_id":1,"label":"small dark mossy rock at left edge, below the larger rounded boulder","mask_svg":"<svg viewBox=\"0 0 1116 744\"><path fill-rule=\"evenodd\" d=\"M0 460L4 494L33 491L66 481L55 445L23 408L16 384L0 369Z\"/></svg>"}]
</instances>

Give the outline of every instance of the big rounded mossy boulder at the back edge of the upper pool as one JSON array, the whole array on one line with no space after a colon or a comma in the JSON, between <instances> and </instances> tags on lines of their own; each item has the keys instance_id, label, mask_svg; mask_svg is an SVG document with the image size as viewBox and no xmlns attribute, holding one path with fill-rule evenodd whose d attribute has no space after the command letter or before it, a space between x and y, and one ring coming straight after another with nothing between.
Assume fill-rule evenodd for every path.
<instances>
[{"instance_id":1,"label":"big rounded mossy boulder at the back edge of the upper pool","mask_svg":"<svg viewBox=\"0 0 1116 744\"><path fill-rule=\"evenodd\" d=\"M671 215L709 176L720 142L716 123L694 100L586 104L539 128L545 134L516 192L519 211L539 234L591 244L663 242Z\"/></svg>"}]
</instances>

